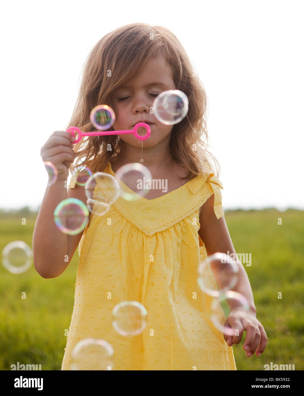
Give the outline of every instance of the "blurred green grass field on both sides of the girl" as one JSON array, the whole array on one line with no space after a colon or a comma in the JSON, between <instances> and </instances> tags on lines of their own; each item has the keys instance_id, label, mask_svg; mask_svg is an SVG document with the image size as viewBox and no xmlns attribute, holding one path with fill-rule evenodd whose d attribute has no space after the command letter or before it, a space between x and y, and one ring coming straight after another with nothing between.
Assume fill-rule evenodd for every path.
<instances>
[{"instance_id":1,"label":"blurred green grass field on both sides of the girl","mask_svg":"<svg viewBox=\"0 0 304 396\"><path fill-rule=\"evenodd\" d=\"M21 225L21 218L26 225ZM278 225L278 218L282 225ZM225 219L237 253L251 253L248 274L257 318L268 336L265 352L247 358L234 346L238 370L264 370L264 364L295 364L304 369L304 211L276 209L227 211ZM23 240L32 246L36 216L0 217L0 249ZM0 266L0 369L11 364L41 364L42 370L60 370L70 326L78 265L72 262L58 278L43 279L34 265L13 275ZM26 292L26 299L22 293ZM282 298L278 299L278 293Z\"/></svg>"}]
</instances>

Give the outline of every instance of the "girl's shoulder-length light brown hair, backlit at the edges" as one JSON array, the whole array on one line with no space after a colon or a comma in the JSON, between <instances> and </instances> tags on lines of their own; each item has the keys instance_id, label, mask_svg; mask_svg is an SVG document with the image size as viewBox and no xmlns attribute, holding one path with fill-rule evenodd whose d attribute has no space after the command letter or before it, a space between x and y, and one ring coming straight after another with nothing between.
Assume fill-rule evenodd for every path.
<instances>
[{"instance_id":1,"label":"girl's shoulder-length light brown hair, backlit at the edges","mask_svg":"<svg viewBox=\"0 0 304 396\"><path fill-rule=\"evenodd\" d=\"M116 114L111 97L114 89L134 78L151 59L161 56L172 70L176 89L189 99L187 116L173 125L171 131L172 159L188 172L183 179L193 179L204 173L208 166L219 177L219 163L207 150L208 98L204 86L179 40L162 26L131 23L113 30L97 42L83 65L77 102L65 130L70 126L76 126L82 132L96 130L90 121L91 110L102 104L110 106ZM111 70L110 78L108 70ZM107 130L113 131L113 128ZM111 151L107 150L108 144ZM76 159L70 171L73 173L82 165L93 173L102 171L108 162L115 162L120 157L122 144L125 143L118 135L83 137L74 145ZM210 159L213 159L215 168Z\"/></svg>"}]
</instances>

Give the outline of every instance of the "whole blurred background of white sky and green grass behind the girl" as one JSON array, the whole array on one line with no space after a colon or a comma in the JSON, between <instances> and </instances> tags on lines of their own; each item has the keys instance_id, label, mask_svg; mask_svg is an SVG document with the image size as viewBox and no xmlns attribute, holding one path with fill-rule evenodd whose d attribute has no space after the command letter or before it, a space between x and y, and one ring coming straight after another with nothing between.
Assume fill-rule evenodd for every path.
<instances>
[{"instance_id":1,"label":"whole blurred background of white sky and green grass behind the girl","mask_svg":"<svg viewBox=\"0 0 304 396\"><path fill-rule=\"evenodd\" d=\"M115 7L55 0L7 2L2 10L2 163L8 172L0 194L1 251L14 240L32 246L48 181L40 148L70 120L81 68L96 42L129 23L165 26L206 89L225 219L236 252L252 254L244 268L268 347L260 358L247 358L243 338L234 347L236 367L264 370L273 362L303 369L303 3L210 0L185 8L158 0ZM41 278L33 265L24 274L0 267L1 370L17 362L60 369L78 259L76 251L55 279Z\"/></svg>"}]
</instances>

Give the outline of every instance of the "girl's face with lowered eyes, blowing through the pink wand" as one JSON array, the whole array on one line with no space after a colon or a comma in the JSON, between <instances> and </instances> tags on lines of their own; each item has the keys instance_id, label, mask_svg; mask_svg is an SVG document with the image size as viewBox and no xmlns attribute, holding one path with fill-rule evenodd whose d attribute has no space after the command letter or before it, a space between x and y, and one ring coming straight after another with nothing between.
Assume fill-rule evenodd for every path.
<instances>
[{"instance_id":1,"label":"girl's face with lowered eyes, blowing through the pink wand","mask_svg":"<svg viewBox=\"0 0 304 396\"><path fill-rule=\"evenodd\" d=\"M153 101L163 91L176 89L172 72L164 58L155 58L150 61L138 76L128 81L123 86L113 91L113 99L116 105L116 120L113 124L115 131L131 130L138 122L147 120L151 135L143 141L143 147L149 148L157 145L168 137L173 125L164 125L157 120L154 114L150 114ZM144 135L146 130L139 128L138 133ZM125 143L134 147L142 147L142 141L136 139L133 134L119 135ZM170 141L167 138L166 141Z\"/></svg>"}]
</instances>

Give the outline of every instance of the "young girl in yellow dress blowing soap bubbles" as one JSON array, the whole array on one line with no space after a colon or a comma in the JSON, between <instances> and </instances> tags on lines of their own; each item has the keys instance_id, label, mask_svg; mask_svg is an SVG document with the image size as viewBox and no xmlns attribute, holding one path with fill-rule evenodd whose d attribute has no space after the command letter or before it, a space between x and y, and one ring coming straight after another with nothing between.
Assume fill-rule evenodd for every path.
<instances>
[{"instance_id":1,"label":"young girl in yellow dress blowing soap bubbles","mask_svg":"<svg viewBox=\"0 0 304 396\"><path fill-rule=\"evenodd\" d=\"M169 89L189 99L187 116L173 126L162 124L151 111L155 97ZM62 370L71 369L72 350L86 338L110 343L115 370L235 370L232 344L241 342L243 331L248 357L261 355L267 337L241 264L233 290L246 297L250 311L230 301L227 318L227 326L239 335L223 337L213 326L213 298L197 284L202 259L235 251L221 204L223 185L202 139L208 139L206 93L176 36L144 23L106 34L86 60L67 128L94 131L89 116L99 104L115 112L109 130L130 130L144 121L151 135L143 147L132 134L90 136L73 146L69 133L55 131L42 147L43 161L52 162L59 175L47 187L36 221L35 268L43 278L54 278L64 272L78 244L80 255ZM73 148L78 159L72 166ZM121 166L141 158L153 179L167 179L167 192L150 190L134 201L119 196L106 215L91 214L83 232L60 232L54 223L56 206L71 197L87 202L84 187L75 181L66 191L69 169L85 164L93 173L115 176ZM95 192L102 193L98 185ZM140 335L126 337L113 329L112 310L122 301L138 301L147 309L148 324Z\"/></svg>"}]
</instances>

